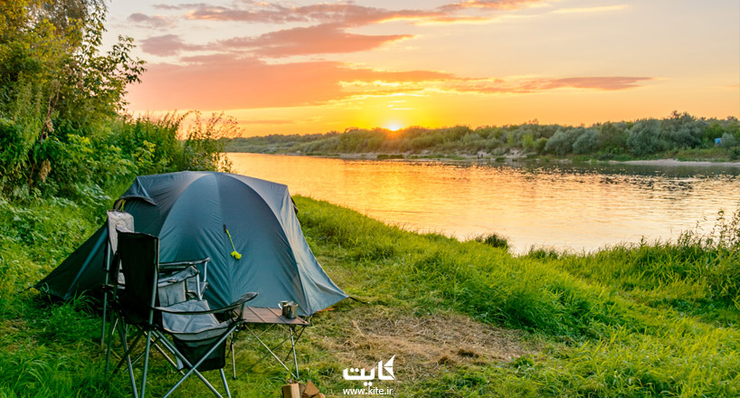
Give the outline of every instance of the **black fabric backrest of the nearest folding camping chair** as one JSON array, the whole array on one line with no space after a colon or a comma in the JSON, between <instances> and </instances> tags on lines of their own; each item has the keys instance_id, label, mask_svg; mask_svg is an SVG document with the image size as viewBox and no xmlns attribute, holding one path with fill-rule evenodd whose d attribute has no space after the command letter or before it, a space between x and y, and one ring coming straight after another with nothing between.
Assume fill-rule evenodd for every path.
<instances>
[{"instance_id":1,"label":"black fabric backrest of the nearest folding camping chair","mask_svg":"<svg viewBox=\"0 0 740 398\"><path fill-rule=\"evenodd\" d=\"M121 269L126 277L120 306L130 322L157 322L152 319L151 308L159 305L159 238L147 233L119 231L118 243Z\"/></svg>"}]
</instances>

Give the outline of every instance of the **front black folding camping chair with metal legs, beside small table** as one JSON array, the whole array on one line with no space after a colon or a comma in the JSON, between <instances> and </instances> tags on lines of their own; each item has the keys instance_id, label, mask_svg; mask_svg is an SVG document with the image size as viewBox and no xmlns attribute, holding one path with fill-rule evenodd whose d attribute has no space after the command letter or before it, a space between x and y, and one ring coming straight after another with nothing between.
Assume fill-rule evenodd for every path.
<instances>
[{"instance_id":1,"label":"front black folding camping chair with metal legs, beside small table","mask_svg":"<svg viewBox=\"0 0 740 398\"><path fill-rule=\"evenodd\" d=\"M186 300L170 306L162 306L158 294L159 284L159 239L156 236L137 232L119 232L118 257L120 270L128 280L127 289L119 295L112 295L111 305L117 314L128 325L136 325L141 334L146 336L144 365L140 395L137 391L131 351L136 346L138 337L128 346L126 329L123 322L118 323L119 336L124 348L124 359L128 367L128 376L135 397L144 397L147 386L147 371L151 346L161 343L167 350L176 355L178 369L187 372L164 395L173 393L187 377L195 374L218 397L222 397L213 385L208 383L201 372L219 369L227 396L231 397L226 376L225 365L226 340L232 332L242 326L242 313L245 303L257 296L247 293L225 308L211 309L208 302L202 299ZM115 282L117 275L113 268L111 278ZM180 280L178 283L185 283ZM224 314L226 319L220 322L213 314ZM142 336L139 335L139 336ZM173 341L166 335L172 336ZM106 364L107 366L107 364Z\"/></svg>"}]
</instances>

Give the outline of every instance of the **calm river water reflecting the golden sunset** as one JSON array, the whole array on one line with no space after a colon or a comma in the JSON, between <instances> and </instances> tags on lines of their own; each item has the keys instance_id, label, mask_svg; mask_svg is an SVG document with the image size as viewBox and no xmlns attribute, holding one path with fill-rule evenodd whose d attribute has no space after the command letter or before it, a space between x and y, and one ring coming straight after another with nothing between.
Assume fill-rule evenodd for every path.
<instances>
[{"instance_id":1,"label":"calm river water reflecting the golden sunset","mask_svg":"<svg viewBox=\"0 0 740 398\"><path fill-rule=\"evenodd\" d=\"M740 201L740 167L375 161L230 153L236 173L385 223L460 240L497 232L516 252L593 251L705 231Z\"/></svg>"}]
</instances>

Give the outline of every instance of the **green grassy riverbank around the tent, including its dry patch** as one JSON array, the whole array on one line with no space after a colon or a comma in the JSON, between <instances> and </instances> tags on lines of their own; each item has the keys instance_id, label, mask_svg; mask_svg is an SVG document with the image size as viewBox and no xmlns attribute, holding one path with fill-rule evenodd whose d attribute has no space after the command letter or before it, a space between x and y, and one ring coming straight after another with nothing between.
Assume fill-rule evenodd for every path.
<instances>
[{"instance_id":1,"label":"green grassy riverbank around the tent, including its dry patch","mask_svg":"<svg viewBox=\"0 0 740 398\"><path fill-rule=\"evenodd\" d=\"M370 303L319 312L299 345L302 378L327 396L356 387L344 368L391 355L398 380L378 383L398 397L740 394L738 213L675 243L514 257L495 247L500 237L458 242L295 200L329 276ZM97 207L0 203L0 397L129 395L124 374L103 374L90 300L50 304L27 289L94 231ZM245 370L260 353L239 347ZM157 395L176 374L161 358L154 366ZM256 366L230 383L233 395L278 396L281 369ZM207 393L190 381L176 396Z\"/></svg>"}]
</instances>

